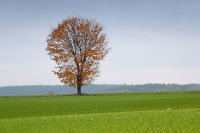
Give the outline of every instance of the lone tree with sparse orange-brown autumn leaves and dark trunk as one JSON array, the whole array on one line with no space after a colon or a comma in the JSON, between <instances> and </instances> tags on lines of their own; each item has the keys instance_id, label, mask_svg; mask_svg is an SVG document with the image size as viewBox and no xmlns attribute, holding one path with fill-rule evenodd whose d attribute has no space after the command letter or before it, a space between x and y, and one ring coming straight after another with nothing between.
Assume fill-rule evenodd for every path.
<instances>
[{"instance_id":1,"label":"lone tree with sparse orange-brown autumn leaves and dark trunk","mask_svg":"<svg viewBox=\"0 0 200 133\"><path fill-rule=\"evenodd\" d=\"M80 17L63 20L47 38L48 54L57 64L54 73L61 82L77 88L99 75L99 61L109 52L103 26Z\"/></svg>"}]
</instances>

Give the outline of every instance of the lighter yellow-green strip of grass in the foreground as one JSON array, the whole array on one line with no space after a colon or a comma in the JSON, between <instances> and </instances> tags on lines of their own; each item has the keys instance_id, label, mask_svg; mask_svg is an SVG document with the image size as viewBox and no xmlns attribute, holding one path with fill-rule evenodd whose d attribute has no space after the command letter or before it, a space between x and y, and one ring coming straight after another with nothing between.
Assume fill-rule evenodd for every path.
<instances>
[{"instance_id":1,"label":"lighter yellow-green strip of grass in the foreground","mask_svg":"<svg viewBox=\"0 0 200 133\"><path fill-rule=\"evenodd\" d=\"M0 120L6 133L199 133L200 109L58 115Z\"/></svg>"}]
</instances>

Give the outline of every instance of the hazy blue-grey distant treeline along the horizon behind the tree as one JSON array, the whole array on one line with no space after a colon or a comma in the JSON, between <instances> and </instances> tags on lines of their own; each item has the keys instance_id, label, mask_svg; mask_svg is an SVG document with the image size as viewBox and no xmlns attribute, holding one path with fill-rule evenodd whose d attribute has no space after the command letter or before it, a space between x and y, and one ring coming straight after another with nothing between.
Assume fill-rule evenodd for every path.
<instances>
[{"instance_id":1,"label":"hazy blue-grey distant treeline along the horizon behind the tree","mask_svg":"<svg viewBox=\"0 0 200 133\"><path fill-rule=\"evenodd\" d=\"M200 90L200 84L143 84L143 85L112 85L91 84L83 87L83 93L116 93L116 92L162 92ZM24 95L56 95L75 94L76 89L66 85L33 85L0 87L0 96Z\"/></svg>"}]
</instances>

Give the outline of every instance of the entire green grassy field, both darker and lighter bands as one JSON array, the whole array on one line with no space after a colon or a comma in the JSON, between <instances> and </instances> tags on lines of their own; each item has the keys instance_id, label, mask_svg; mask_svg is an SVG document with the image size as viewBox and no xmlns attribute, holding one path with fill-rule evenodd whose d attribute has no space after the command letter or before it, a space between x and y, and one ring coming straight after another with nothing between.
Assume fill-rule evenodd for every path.
<instances>
[{"instance_id":1,"label":"entire green grassy field, both darker and lighter bands","mask_svg":"<svg viewBox=\"0 0 200 133\"><path fill-rule=\"evenodd\" d=\"M200 92L0 97L0 133L200 132Z\"/></svg>"}]
</instances>

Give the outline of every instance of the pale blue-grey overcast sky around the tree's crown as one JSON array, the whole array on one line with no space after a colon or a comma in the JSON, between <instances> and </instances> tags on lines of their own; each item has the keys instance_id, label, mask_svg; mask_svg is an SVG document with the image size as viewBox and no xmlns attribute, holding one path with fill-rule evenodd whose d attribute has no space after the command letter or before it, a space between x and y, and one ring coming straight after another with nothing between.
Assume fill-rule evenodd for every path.
<instances>
[{"instance_id":1,"label":"pale blue-grey overcast sky around the tree's crown","mask_svg":"<svg viewBox=\"0 0 200 133\"><path fill-rule=\"evenodd\" d=\"M69 16L105 27L112 51L94 83L200 83L199 0L2 0L0 86L61 84L45 47Z\"/></svg>"}]
</instances>

